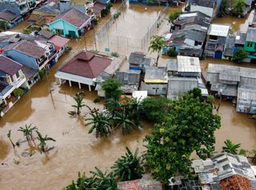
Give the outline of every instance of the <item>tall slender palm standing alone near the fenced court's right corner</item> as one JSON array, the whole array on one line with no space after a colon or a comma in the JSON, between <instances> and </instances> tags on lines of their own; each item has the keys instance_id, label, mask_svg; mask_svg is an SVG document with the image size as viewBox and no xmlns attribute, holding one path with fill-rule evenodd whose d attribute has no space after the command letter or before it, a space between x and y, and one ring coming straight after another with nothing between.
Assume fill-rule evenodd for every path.
<instances>
[{"instance_id":1,"label":"tall slender palm standing alone near the fenced court's right corner","mask_svg":"<svg viewBox=\"0 0 256 190\"><path fill-rule=\"evenodd\" d=\"M156 61L156 66L158 66L158 59L160 56L159 53L161 49L166 46L166 40L162 36L158 36L158 35L152 36L150 39L151 41L150 41L149 51L158 53L158 58Z\"/></svg>"}]
</instances>

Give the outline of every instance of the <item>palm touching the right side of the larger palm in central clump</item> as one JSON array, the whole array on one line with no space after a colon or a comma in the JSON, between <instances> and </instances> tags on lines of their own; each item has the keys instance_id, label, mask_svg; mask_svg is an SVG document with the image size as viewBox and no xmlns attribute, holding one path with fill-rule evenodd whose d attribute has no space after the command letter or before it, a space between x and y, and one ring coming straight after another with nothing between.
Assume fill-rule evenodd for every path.
<instances>
[{"instance_id":1,"label":"palm touching the right side of the larger palm in central clump","mask_svg":"<svg viewBox=\"0 0 256 190\"><path fill-rule=\"evenodd\" d=\"M122 113L116 113L113 117L114 127L118 128L122 126L122 134L130 133L130 128L136 129L136 124L134 121L130 120L130 114L126 113L126 109L122 110Z\"/></svg>"}]
</instances>

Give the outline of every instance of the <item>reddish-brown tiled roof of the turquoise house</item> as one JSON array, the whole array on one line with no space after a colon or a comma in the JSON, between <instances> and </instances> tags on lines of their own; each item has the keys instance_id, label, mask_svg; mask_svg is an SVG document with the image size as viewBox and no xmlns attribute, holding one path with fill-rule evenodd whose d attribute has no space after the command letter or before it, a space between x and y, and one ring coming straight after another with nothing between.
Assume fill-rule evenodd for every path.
<instances>
[{"instance_id":1,"label":"reddish-brown tiled roof of the turquoise house","mask_svg":"<svg viewBox=\"0 0 256 190\"><path fill-rule=\"evenodd\" d=\"M90 19L89 16L86 14L83 14L81 11L77 9L71 9L67 10L66 12L59 14L54 21L57 21L58 19L63 19L66 22L69 22L70 24L80 27L82 26L87 20Z\"/></svg>"}]
</instances>

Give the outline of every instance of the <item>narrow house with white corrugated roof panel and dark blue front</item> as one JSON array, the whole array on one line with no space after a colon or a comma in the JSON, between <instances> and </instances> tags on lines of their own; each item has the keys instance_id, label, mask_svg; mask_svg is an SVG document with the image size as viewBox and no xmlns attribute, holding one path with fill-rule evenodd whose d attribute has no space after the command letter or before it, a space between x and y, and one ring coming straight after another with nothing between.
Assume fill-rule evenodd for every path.
<instances>
[{"instance_id":1,"label":"narrow house with white corrugated roof panel and dark blue front","mask_svg":"<svg viewBox=\"0 0 256 190\"><path fill-rule=\"evenodd\" d=\"M222 59L226 49L226 39L229 34L230 25L211 24L204 51L206 56Z\"/></svg>"}]
</instances>

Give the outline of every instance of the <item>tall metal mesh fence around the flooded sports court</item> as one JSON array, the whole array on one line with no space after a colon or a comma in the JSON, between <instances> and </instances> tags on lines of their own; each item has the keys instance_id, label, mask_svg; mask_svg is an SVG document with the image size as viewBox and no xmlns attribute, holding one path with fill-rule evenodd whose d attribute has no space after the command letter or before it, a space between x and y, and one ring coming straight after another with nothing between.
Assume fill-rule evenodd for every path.
<instances>
[{"instance_id":1,"label":"tall metal mesh fence around the flooded sports court","mask_svg":"<svg viewBox=\"0 0 256 190\"><path fill-rule=\"evenodd\" d=\"M121 10L122 7L123 6L121 5L118 9ZM158 30L158 26L162 22L162 19L166 17L168 11L169 7L166 6L165 9L160 12L154 24L148 28L144 37L140 39L109 35L108 30L110 30L110 26L114 24L114 18L110 18L111 22L107 22L106 25L102 27L102 30L97 34L97 43L102 46L109 47L111 51L118 51L120 53L129 53L134 50L144 51L150 42L150 37Z\"/></svg>"}]
</instances>

